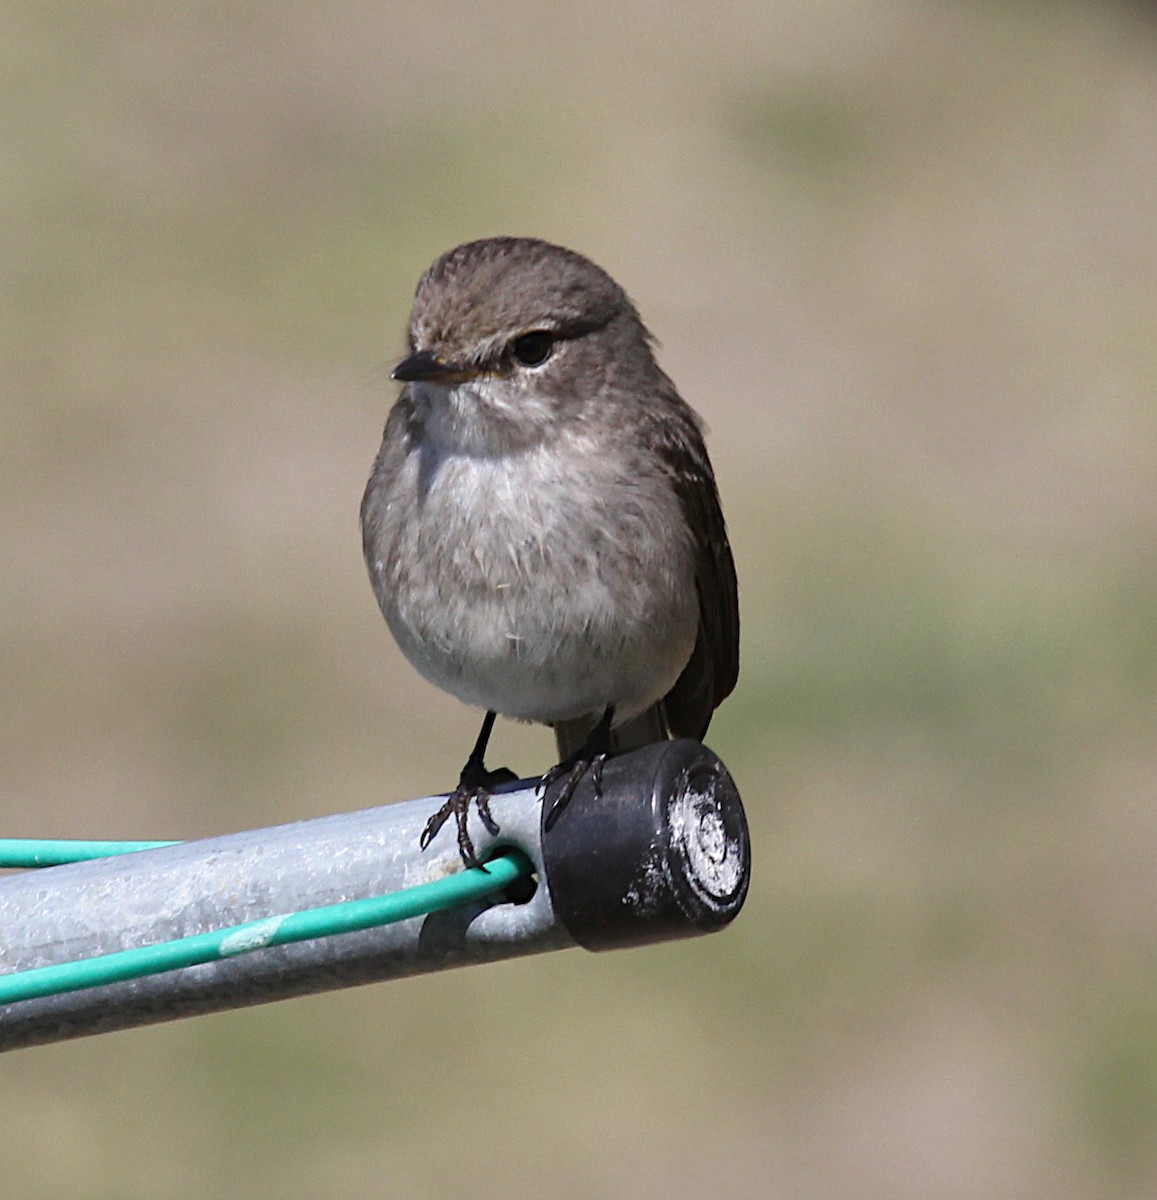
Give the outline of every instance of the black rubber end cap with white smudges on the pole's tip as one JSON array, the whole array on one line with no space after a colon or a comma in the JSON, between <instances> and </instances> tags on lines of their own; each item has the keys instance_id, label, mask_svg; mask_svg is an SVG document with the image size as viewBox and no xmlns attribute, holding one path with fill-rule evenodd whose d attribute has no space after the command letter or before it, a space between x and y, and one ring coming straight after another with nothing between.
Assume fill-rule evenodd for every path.
<instances>
[{"instance_id":1,"label":"black rubber end cap with white smudges on the pole's tip","mask_svg":"<svg viewBox=\"0 0 1157 1200\"><path fill-rule=\"evenodd\" d=\"M542 865L558 919L580 946L610 950L709 934L748 894L751 842L727 768L699 742L607 758L601 796L587 772L550 829Z\"/></svg>"}]
</instances>

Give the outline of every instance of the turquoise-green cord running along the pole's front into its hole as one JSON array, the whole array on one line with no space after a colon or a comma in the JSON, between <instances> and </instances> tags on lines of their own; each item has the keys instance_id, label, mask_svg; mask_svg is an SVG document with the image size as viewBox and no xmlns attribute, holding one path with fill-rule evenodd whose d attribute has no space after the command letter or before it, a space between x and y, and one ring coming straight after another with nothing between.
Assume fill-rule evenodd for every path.
<instances>
[{"instance_id":1,"label":"turquoise-green cord running along the pole's front into its hole","mask_svg":"<svg viewBox=\"0 0 1157 1200\"><path fill-rule=\"evenodd\" d=\"M164 844L113 842L112 845L145 848ZM419 883L416 887L390 895L347 900L344 904L325 905L322 908L264 917L211 934L193 934L174 942L118 950L95 959L83 959L79 962L32 967L29 971L0 976L0 1004L14 1004L22 1000L55 996L60 992L79 991L83 988L100 988L162 971L196 966L199 962L214 962L234 954L264 949L266 946L284 946L288 942L304 942L311 937L352 934L361 929L372 929L374 925L422 917L428 912L452 908L500 892L517 880L528 877L533 871L534 866L526 854L517 850L506 850L497 858L490 859L485 868L474 866L457 871L432 883Z\"/></svg>"}]
</instances>

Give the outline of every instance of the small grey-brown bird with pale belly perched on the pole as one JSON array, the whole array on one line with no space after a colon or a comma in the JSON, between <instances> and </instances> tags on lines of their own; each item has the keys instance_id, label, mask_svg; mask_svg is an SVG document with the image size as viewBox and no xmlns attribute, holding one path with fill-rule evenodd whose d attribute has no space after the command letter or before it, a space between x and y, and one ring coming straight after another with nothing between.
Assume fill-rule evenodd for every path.
<instances>
[{"instance_id":1,"label":"small grey-brown bird with pale belly perched on the pole","mask_svg":"<svg viewBox=\"0 0 1157 1200\"><path fill-rule=\"evenodd\" d=\"M612 750L702 739L739 668L735 564L699 418L623 289L550 242L487 238L421 277L404 388L361 502L402 653L486 710L452 814L498 828L496 714L554 728L557 818ZM598 775L595 784L598 785Z\"/></svg>"}]
</instances>

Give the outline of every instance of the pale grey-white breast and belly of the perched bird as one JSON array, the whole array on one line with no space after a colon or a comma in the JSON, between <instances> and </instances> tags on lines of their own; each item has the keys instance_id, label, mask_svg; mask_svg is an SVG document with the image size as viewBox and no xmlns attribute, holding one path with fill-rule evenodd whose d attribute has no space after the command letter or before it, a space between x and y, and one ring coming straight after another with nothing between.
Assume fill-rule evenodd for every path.
<instances>
[{"instance_id":1,"label":"pale grey-white breast and belly of the perched bird","mask_svg":"<svg viewBox=\"0 0 1157 1200\"><path fill-rule=\"evenodd\" d=\"M515 456L416 445L367 547L403 653L468 703L559 720L645 707L697 628L685 520L661 478L582 440Z\"/></svg>"}]
</instances>

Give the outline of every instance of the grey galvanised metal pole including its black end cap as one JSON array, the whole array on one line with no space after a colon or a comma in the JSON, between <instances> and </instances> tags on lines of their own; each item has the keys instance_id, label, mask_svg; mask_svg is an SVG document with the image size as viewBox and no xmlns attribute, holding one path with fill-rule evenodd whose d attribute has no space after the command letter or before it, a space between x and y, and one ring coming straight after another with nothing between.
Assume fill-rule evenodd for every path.
<instances>
[{"instance_id":1,"label":"grey galvanised metal pole including its black end cap","mask_svg":"<svg viewBox=\"0 0 1157 1200\"><path fill-rule=\"evenodd\" d=\"M229 834L0 878L0 972L70 962L304 908L382 895L461 870L452 822L422 853L438 798ZM534 781L496 790L480 857L533 862L529 899L487 901L362 932L266 947L125 983L0 1008L0 1050L575 944L592 949L721 928L747 894L738 793L699 743L669 742L583 780L548 830ZM545 886L544 886L545 884ZM518 902L521 901L521 902Z\"/></svg>"}]
</instances>

